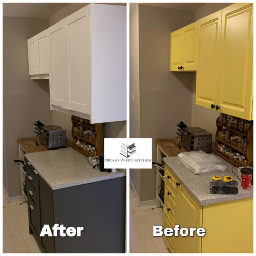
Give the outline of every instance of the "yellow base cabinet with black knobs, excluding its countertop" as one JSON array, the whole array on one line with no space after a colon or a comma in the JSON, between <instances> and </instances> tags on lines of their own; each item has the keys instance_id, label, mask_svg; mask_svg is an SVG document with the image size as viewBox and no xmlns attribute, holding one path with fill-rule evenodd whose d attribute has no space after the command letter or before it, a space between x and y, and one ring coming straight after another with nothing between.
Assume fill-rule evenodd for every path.
<instances>
[{"instance_id":1,"label":"yellow base cabinet with black knobs, excluding its countertop","mask_svg":"<svg viewBox=\"0 0 256 256\"><path fill-rule=\"evenodd\" d=\"M165 165L163 226L175 225L203 227L206 234L204 237L164 236L172 253L253 252L253 198L202 206Z\"/></svg>"}]
</instances>

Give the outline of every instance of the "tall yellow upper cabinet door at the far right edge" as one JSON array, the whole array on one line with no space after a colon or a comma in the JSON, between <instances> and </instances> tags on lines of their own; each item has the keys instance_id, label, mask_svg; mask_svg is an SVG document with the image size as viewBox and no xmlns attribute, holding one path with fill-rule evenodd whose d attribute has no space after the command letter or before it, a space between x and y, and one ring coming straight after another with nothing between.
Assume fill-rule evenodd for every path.
<instances>
[{"instance_id":1,"label":"tall yellow upper cabinet door at the far right edge","mask_svg":"<svg viewBox=\"0 0 256 256\"><path fill-rule=\"evenodd\" d=\"M222 10L221 75L218 111L252 119L253 4L237 3Z\"/></svg>"}]
</instances>

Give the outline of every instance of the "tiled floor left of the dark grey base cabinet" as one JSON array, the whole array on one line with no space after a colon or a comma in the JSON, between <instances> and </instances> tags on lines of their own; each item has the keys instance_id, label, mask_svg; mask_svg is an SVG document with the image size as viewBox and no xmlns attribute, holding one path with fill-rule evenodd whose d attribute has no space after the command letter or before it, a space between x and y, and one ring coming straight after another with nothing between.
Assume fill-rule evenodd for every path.
<instances>
[{"instance_id":1,"label":"tiled floor left of the dark grey base cabinet","mask_svg":"<svg viewBox=\"0 0 256 256\"><path fill-rule=\"evenodd\" d=\"M28 225L27 203L8 203L3 195L4 253L40 253Z\"/></svg>"}]
</instances>

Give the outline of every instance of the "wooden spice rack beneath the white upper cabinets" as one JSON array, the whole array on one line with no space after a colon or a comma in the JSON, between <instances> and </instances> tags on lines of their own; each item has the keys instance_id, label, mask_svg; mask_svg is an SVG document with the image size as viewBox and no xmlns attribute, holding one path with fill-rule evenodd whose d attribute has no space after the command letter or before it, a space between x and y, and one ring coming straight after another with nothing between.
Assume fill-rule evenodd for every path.
<instances>
[{"instance_id":1,"label":"wooden spice rack beneath the white upper cabinets","mask_svg":"<svg viewBox=\"0 0 256 256\"><path fill-rule=\"evenodd\" d=\"M103 154L103 124L102 123L96 123L96 124L91 124L90 120L80 118L78 116L72 116L71 117L72 121L72 137L73 137L73 142L72 142L72 147L80 152L83 155L86 156L99 156ZM77 124L80 124L84 127L87 127L90 131L95 131L95 138L90 137L88 135L85 135L83 133L80 133L78 131L75 131L75 126ZM84 150L84 148L77 146L77 140L84 141L86 143L91 144L92 146L95 146L96 152L89 152L87 150Z\"/></svg>"}]
</instances>

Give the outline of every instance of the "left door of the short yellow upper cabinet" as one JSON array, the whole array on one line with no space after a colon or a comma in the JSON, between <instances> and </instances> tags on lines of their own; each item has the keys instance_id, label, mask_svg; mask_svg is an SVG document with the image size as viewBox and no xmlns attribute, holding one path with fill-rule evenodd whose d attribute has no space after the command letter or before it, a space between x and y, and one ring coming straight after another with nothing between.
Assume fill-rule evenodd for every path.
<instances>
[{"instance_id":1,"label":"left door of the short yellow upper cabinet","mask_svg":"<svg viewBox=\"0 0 256 256\"><path fill-rule=\"evenodd\" d=\"M170 34L170 71L179 71L182 66L182 29Z\"/></svg>"}]
</instances>

